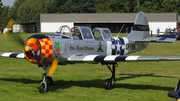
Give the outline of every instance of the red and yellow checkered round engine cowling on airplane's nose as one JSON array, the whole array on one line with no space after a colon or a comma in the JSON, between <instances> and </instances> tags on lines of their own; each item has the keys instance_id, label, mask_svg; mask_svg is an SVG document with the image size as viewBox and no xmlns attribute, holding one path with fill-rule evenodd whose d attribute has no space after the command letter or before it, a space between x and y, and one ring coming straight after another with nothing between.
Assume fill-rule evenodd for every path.
<instances>
[{"instance_id":1,"label":"red and yellow checkered round engine cowling on airplane's nose","mask_svg":"<svg viewBox=\"0 0 180 101\"><path fill-rule=\"evenodd\" d=\"M51 60L53 46L50 38L29 38L25 42L24 54L28 61L42 65Z\"/></svg>"}]
</instances>

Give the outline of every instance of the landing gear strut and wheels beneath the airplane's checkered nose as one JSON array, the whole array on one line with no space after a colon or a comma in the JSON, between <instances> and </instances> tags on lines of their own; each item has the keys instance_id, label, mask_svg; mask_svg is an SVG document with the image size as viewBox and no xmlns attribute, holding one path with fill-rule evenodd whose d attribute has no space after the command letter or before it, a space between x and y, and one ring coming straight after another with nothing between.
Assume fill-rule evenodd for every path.
<instances>
[{"instance_id":1,"label":"landing gear strut and wheels beneath the airplane's checkered nose","mask_svg":"<svg viewBox=\"0 0 180 101\"><path fill-rule=\"evenodd\" d=\"M53 84L52 78L50 76L47 76L47 74L46 74L47 68L48 68L48 66L46 66L44 68L45 73L42 76L43 81L41 82L41 85L39 87L39 92L40 93L48 92L48 86L51 86Z\"/></svg>"}]
</instances>

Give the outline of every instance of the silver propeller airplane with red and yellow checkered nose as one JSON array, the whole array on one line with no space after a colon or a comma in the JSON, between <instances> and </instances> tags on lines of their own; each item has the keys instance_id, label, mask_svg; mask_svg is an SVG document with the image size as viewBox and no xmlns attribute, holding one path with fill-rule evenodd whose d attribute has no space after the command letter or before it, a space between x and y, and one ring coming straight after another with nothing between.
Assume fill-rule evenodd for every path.
<instances>
[{"instance_id":1,"label":"silver propeller airplane with red and yellow checkered nose","mask_svg":"<svg viewBox=\"0 0 180 101\"><path fill-rule=\"evenodd\" d=\"M12 24L12 22L11 22ZM10 24L10 25L11 25ZM10 26L8 24L8 28ZM48 92L53 84L51 76L57 65L75 63L101 63L106 65L112 76L105 81L104 88L114 88L117 62L127 61L165 61L180 60L180 57L163 56L126 56L145 49L149 42L169 42L176 39L149 37L149 24L143 11L137 13L133 30L126 37L112 37L108 28L95 27L92 31L87 26L74 26L73 39L71 29L64 25L55 34L34 34L23 43L23 53L0 52L2 57L24 58L44 69L39 92ZM5 32L5 35L8 31Z\"/></svg>"}]
</instances>

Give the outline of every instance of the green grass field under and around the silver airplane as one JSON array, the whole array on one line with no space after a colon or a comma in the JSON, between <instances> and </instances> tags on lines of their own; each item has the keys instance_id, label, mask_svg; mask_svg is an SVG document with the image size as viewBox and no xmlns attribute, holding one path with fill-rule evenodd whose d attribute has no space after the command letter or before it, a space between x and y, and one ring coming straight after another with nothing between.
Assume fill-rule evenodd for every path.
<instances>
[{"instance_id":1,"label":"green grass field under and around the silver airplane","mask_svg":"<svg viewBox=\"0 0 180 101\"><path fill-rule=\"evenodd\" d=\"M16 34L12 34L16 38ZM24 39L32 34L22 33ZM116 36L114 34L113 36ZM125 34L120 34L125 36ZM0 52L22 52L23 46L0 34ZM148 48L130 55L180 56L180 42L150 43ZM52 76L53 86L41 94L42 68L26 59L0 57L0 100L57 100L57 101L172 101L167 96L180 77L180 61L119 62L116 84L104 89L104 81L111 77L101 64L59 65Z\"/></svg>"}]
</instances>

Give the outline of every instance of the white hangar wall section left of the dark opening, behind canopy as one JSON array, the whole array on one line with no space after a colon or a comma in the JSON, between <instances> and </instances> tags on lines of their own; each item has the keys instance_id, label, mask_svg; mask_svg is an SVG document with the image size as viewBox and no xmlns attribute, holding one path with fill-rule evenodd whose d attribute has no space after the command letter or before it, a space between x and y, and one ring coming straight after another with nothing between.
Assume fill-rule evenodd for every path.
<instances>
[{"instance_id":1,"label":"white hangar wall section left of the dark opening, behind canopy","mask_svg":"<svg viewBox=\"0 0 180 101\"><path fill-rule=\"evenodd\" d=\"M73 22L41 22L41 32L56 32L62 25L70 28L74 26Z\"/></svg>"}]
</instances>

